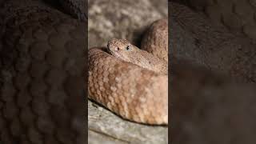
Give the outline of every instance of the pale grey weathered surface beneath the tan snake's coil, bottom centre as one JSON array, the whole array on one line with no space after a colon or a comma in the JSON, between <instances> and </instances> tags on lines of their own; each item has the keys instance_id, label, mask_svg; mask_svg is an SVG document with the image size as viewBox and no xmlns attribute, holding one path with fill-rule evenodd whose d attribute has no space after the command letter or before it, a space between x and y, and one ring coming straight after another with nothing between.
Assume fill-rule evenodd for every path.
<instances>
[{"instance_id":1,"label":"pale grey weathered surface beneath the tan snake's coil, bottom centre","mask_svg":"<svg viewBox=\"0 0 256 144\"><path fill-rule=\"evenodd\" d=\"M168 129L124 121L109 110L88 102L89 143L168 143ZM97 135L97 136L95 136Z\"/></svg>"}]
</instances>

